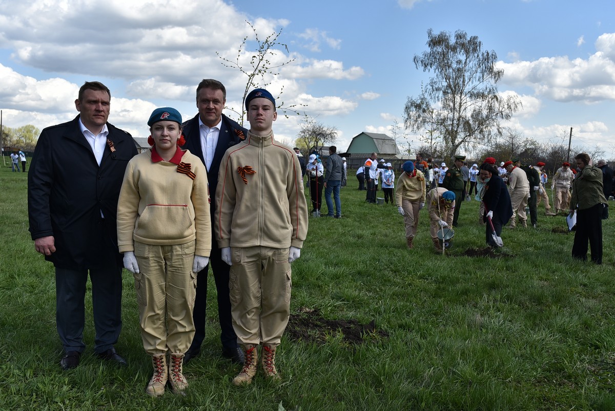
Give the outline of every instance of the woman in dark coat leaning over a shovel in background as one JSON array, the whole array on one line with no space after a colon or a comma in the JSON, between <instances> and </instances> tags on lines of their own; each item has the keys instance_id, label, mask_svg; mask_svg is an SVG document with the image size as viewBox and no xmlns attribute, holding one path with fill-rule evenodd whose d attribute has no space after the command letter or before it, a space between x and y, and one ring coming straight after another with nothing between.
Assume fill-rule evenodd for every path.
<instances>
[{"instance_id":1,"label":"woman in dark coat leaning over a shovel in background","mask_svg":"<svg viewBox=\"0 0 615 411\"><path fill-rule=\"evenodd\" d=\"M491 218L493 228L496 234L499 236L502 233L502 227L512 217L512 204L510 203L510 196L506 188L506 184L499 178L498 169L488 163L483 163L479 167L480 177L485 182L482 187L480 197L485 204L485 213L483 214L483 220L486 222L487 217ZM487 245L496 247L496 242L493 240L493 231L491 225L486 224L486 241Z\"/></svg>"}]
</instances>

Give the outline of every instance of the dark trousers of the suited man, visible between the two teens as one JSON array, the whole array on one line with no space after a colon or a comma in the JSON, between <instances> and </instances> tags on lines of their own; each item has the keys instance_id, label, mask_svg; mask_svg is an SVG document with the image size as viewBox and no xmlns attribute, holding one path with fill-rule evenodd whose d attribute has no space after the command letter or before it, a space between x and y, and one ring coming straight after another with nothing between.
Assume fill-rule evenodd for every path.
<instances>
[{"instance_id":1,"label":"dark trousers of the suited man, visible between the two teens","mask_svg":"<svg viewBox=\"0 0 615 411\"><path fill-rule=\"evenodd\" d=\"M237 348L237 334L232 327L231 298L229 297L229 271L231 266L222 261L222 252L212 243L212 252L209 256L209 264L199 271L196 277L196 298L194 300L194 338L190 345L191 351L200 349L205 339L205 324L207 323L207 275L209 266L212 266L213 279L216 283L218 294L218 320L220 321L220 341L223 348Z\"/></svg>"}]
</instances>

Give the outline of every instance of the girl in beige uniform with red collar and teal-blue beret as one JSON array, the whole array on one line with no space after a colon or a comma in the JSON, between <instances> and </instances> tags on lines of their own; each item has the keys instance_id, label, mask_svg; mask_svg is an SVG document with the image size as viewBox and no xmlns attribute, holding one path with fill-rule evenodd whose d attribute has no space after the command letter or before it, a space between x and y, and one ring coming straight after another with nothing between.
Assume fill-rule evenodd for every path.
<instances>
[{"instance_id":1,"label":"girl in beige uniform with red collar and teal-blue beret","mask_svg":"<svg viewBox=\"0 0 615 411\"><path fill-rule=\"evenodd\" d=\"M135 277L141 340L154 375L146 393L188 386L184 353L194 337L196 277L209 261L212 228L207 170L181 150L181 114L157 108L148 121L152 147L130 160L117 203L117 245ZM167 365L167 353L169 363Z\"/></svg>"}]
</instances>

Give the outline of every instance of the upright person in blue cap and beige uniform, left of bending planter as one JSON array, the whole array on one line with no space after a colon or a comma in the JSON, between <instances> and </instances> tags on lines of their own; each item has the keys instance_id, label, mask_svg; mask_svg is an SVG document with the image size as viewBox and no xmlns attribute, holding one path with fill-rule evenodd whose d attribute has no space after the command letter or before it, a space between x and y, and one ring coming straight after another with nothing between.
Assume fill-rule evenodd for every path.
<instances>
[{"instance_id":1,"label":"upright person in blue cap and beige uniform, left of bending planter","mask_svg":"<svg viewBox=\"0 0 615 411\"><path fill-rule=\"evenodd\" d=\"M419 210L425 206L425 175L415 168L411 161L403 163L403 173L397 180L395 204L397 211L403 215L406 227L406 244L413 248L416 228L419 225Z\"/></svg>"}]
</instances>

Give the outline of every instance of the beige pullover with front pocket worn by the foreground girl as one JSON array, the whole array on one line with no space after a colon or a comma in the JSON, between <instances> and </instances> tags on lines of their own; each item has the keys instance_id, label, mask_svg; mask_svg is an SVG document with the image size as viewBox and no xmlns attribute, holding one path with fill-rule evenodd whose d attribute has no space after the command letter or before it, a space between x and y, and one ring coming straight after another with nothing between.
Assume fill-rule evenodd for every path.
<instances>
[{"instance_id":1,"label":"beige pullover with front pocket worn by the foreground girl","mask_svg":"<svg viewBox=\"0 0 615 411\"><path fill-rule=\"evenodd\" d=\"M120 252L133 251L134 241L175 245L196 240L196 255L209 256L212 228L207 171L188 150L176 156L177 162L190 164L194 180L178 172L178 164L153 162L151 149L128 163L117 202Z\"/></svg>"}]
</instances>

